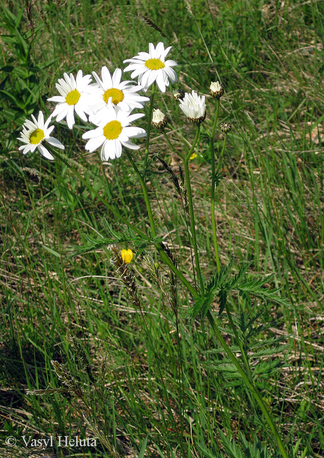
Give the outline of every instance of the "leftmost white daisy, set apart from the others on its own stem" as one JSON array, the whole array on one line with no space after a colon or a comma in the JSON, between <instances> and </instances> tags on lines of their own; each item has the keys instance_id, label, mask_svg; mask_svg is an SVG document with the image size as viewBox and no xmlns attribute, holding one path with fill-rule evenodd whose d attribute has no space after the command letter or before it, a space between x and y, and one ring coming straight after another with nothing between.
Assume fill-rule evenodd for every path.
<instances>
[{"instance_id":1,"label":"leftmost white daisy, set apart from the others on its own stem","mask_svg":"<svg viewBox=\"0 0 324 458\"><path fill-rule=\"evenodd\" d=\"M52 116L50 116L45 123L43 111L38 113L38 120L34 115L31 115L31 118L33 118L34 122L26 119L22 125L21 136L18 137L17 140L22 141L25 145L21 145L18 149L22 150L22 154L27 154L29 151L34 153L36 148L38 148L39 152L44 157L47 159L54 159L51 153L42 145L42 141L46 140L50 145L60 148L61 150L64 149L64 145L62 145L60 141L54 137L50 137L50 133L54 129L54 126L48 127Z\"/></svg>"}]
</instances>

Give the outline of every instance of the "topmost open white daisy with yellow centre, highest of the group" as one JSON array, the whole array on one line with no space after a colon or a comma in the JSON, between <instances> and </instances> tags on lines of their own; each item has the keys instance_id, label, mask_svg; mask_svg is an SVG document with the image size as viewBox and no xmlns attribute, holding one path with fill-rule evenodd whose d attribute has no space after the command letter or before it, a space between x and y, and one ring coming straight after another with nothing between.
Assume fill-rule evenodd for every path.
<instances>
[{"instance_id":1,"label":"topmost open white daisy with yellow centre, highest of the group","mask_svg":"<svg viewBox=\"0 0 324 458\"><path fill-rule=\"evenodd\" d=\"M124 72L133 71L132 78L138 76L138 83L147 91L151 84L156 81L161 92L166 92L171 82L176 82L177 74L172 67L178 65L175 61L166 61L166 56L172 46L164 49L164 44L160 41L154 48L153 43L149 43L149 52L139 52L133 59L126 59L125 62L131 62Z\"/></svg>"}]
</instances>

